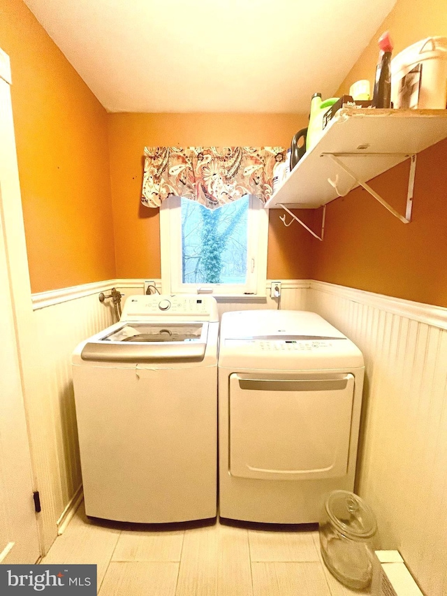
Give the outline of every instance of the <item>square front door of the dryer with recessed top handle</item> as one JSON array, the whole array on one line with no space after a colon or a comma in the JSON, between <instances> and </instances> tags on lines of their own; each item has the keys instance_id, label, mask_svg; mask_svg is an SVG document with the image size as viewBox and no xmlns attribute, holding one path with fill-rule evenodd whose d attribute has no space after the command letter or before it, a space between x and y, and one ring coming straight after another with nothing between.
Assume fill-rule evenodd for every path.
<instances>
[{"instance_id":1,"label":"square front door of the dryer with recessed top handle","mask_svg":"<svg viewBox=\"0 0 447 596\"><path fill-rule=\"evenodd\" d=\"M230 375L230 474L319 479L346 474L354 377Z\"/></svg>"}]
</instances>

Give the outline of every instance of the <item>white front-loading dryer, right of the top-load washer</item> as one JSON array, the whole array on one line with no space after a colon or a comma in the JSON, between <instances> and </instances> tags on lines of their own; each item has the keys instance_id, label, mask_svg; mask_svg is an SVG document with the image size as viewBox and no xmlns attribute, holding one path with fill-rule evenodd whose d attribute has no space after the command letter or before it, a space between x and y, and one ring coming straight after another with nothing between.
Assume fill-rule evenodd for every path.
<instances>
[{"instance_id":1,"label":"white front-loading dryer, right of the top-load washer","mask_svg":"<svg viewBox=\"0 0 447 596\"><path fill-rule=\"evenodd\" d=\"M314 312L226 312L219 346L223 518L314 523L353 490L364 363Z\"/></svg>"}]
</instances>

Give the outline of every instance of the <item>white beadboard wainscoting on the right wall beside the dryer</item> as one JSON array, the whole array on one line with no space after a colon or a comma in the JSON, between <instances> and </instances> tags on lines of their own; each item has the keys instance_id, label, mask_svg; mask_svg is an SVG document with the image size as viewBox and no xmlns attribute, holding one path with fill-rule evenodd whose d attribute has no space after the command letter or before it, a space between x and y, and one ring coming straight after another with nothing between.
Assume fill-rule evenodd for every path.
<instances>
[{"instance_id":1,"label":"white beadboard wainscoting on the right wall beside the dryer","mask_svg":"<svg viewBox=\"0 0 447 596\"><path fill-rule=\"evenodd\" d=\"M357 488L382 548L420 588L447 594L447 309L311 282L308 310L365 355Z\"/></svg>"}]
</instances>

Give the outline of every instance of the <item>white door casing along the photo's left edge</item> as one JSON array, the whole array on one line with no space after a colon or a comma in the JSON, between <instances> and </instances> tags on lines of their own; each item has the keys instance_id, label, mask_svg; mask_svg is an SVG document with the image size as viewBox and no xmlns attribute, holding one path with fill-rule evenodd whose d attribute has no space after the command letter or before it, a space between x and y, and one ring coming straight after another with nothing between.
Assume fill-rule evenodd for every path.
<instances>
[{"instance_id":1,"label":"white door casing along the photo's left edge","mask_svg":"<svg viewBox=\"0 0 447 596\"><path fill-rule=\"evenodd\" d=\"M0 48L0 77L11 85L10 61ZM17 355L20 364L27 428L31 449L33 490L41 495L42 512L38 515L41 553L45 554L57 536L55 520L59 517L61 486L57 469L57 447L54 431L48 426L51 403L45 391L36 321L31 303L31 285L25 242L22 200L15 152L13 111L10 94L1 109L0 180L1 215L8 261L10 296L13 308ZM38 147L36 147L38 150ZM3 289L1 289L3 291ZM45 415L44 415L45 412ZM53 427L54 428L54 427ZM50 463L52 463L50 465Z\"/></svg>"}]
</instances>

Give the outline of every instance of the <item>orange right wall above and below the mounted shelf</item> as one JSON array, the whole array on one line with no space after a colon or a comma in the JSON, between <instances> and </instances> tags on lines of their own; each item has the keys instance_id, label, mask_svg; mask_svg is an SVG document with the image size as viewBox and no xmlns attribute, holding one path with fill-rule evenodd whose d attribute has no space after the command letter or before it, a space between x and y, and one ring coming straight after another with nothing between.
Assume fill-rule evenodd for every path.
<instances>
[{"instance_id":1,"label":"orange right wall above and below the mounted shelf","mask_svg":"<svg viewBox=\"0 0 447 596\"><path fill-rule=\"evenodd\" d=\"M372 82L376 40L390 30L397 53L430 35L447 36L445 0L398 0L346 77ZM408 165L372 187L405 212ZM328 205L324 242L312 240L312 277L325 282L447 307L447 140L418 155L411 224L402 224L362 189Z\"/></svg>"}]
</instances>

